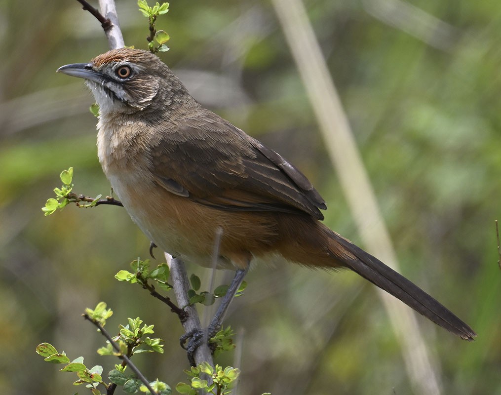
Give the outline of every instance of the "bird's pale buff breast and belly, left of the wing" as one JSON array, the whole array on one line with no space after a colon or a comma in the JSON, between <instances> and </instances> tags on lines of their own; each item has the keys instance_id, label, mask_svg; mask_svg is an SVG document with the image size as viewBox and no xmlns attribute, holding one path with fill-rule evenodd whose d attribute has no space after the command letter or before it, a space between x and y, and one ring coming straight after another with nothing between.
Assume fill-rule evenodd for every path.
<instances>
[{"instance_id":1,"label":"bird's pale buff breast and belly, left of the wing","mask_svg":"<svg viewBox=\"0 0 501 395\"><path fill-rule=\"evenodd\" d=\"M168 192L153 179L147 132L102 120L98 128L98 156L103 171L134 223L150 241L172 255L210 259L212 245L197 240L193 224L187 223L194 204Z\"/></svg>"}]
</instances>

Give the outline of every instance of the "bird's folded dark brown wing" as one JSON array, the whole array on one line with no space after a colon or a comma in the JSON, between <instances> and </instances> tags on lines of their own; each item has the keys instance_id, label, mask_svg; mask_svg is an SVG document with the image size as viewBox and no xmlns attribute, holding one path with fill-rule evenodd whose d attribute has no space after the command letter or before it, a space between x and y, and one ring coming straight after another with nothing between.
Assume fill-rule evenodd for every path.
<instances>
[{"instance_id":1,"label":"bird's folded dark brown wing","mask_svg":"<svg viewBox=\"0 0 501 395\"><path fill-rule=\"evenodd\" d=\"M159 125L151 151L155 182L200 204L229 211L279 211L323 219L325 203L282 156L208 110Z\"/></svg>"}]
</instances>

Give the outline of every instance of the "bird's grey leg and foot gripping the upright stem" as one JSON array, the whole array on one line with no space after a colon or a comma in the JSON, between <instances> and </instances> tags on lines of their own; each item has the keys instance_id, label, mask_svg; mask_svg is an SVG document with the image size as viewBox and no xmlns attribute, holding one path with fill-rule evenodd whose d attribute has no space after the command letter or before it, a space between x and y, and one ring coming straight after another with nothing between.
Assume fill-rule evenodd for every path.
<instances>
[{"instance_id":1,"label":"bird's grey leg and foot gripping the upright stem","mask_svg":"<svg viewBox=\"0 0 501 395\"><path fill-rule=\"evenodd\" d=\"M188 360L192 366L195 366L193 353L195 352L197 347L204 341L207 342L221 328L222 321L224 319L224 316L226 315L226 312L228 311L228 307L233 298L235 297L236 292L240 288L240 285L242 284L243 278L245 277L247 270L248 268L238 269L235 272L235 277L233 277L233 280L231 280L228 290L224 295L224 297L222 298L221 304L217 308L214 318L212 318L212 321L210 322L207 329L205 330L193 329L192 331L181 336L181 338L179 339L181 347L183 347L186 350L186 353L188 354ZM189 339L188 344L186 347L184 347L184 343L188 339Z\"/></svg>"}]
</instances>

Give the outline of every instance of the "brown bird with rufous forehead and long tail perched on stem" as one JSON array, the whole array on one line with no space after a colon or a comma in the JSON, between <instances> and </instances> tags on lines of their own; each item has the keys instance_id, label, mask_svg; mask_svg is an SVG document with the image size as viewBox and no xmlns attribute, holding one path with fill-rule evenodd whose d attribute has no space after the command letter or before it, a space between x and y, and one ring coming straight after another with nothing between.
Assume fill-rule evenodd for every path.
<instances>
[{"instance_id":1,"label":"brown bird with rufous forehead and long tail perched on stem","mask_svg":"<svg viewBox=\"0 0 501 395\"><path fill-rule=\"evenodd\" d=\"M236 269L215 330L253 258L280 254L313 268L348 268L431 321L476 334L438 301L320 221L327 207L274 150L193 99L155 55L117 49L58 72L84 78L100 107L98 156L132 220L162 250Z\"/></svg>"}]
</instances>

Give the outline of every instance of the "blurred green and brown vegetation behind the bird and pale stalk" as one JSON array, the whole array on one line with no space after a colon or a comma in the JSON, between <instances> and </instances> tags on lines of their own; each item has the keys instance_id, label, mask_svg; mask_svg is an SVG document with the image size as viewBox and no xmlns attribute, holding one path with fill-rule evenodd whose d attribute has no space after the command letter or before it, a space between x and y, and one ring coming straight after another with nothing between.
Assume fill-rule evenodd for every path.
<instances>
[{"instance_id":1,"label":"blurred green and brown vegetation behind the bird and pale stalk","mask_svg":"<svg viewBox=\"0 0 501 395\"><path fill-rule=\"evenodd\" d=\"M305 6L401 272L478 333L468 343L418 317L442 393L501 394L494 230L501 219L501 6ZM117 9L126 44L146 48L147 21L136 2L117 1ZM272 4L172 1L157 28L171 36L160 57L192 95L299 167L327 202L326 224L360 244ZM103 337L81 317L99 301L115 312L112 333L129 316L155 324L165 354L141 354L136 363L174 387L188 366L177 341L181 325L146 291L113 277L146 259L149 241L118 207L70 206L50 217L40 210L70 166L75 192L109 194L88 110L94 100L82 81L55 73L108 50L99 23L76 1L3 0L0 46L0 393L87 393L35 347L47 341L109 371L117 360L96 354ZM277 261L257 265L247 282L226 320L240 333L241 360L231 353L217 360L241 366L239 393L415 393L374 287L355 274Z\"/></svg>"}]
</instances>

